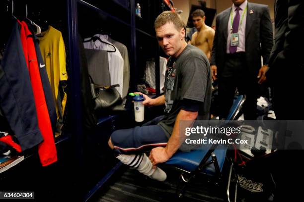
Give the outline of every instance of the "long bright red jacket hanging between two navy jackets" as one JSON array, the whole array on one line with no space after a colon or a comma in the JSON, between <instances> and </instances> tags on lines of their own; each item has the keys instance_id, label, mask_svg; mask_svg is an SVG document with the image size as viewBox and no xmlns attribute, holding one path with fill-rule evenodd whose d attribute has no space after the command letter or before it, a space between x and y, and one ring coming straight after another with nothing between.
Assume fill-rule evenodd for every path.
<instances>
[{"instance_id":1,"label":"long bright red jacket hanging between two navy jackets","mask_svg":"<svg viewBox=\"0 0 304 202\"><path fill-rule=\"evenodd\" d=\"M30 80L37 110L38 126L44 139L44 141L38 146L38 152L42 166L47 166L57 161L57 151L55 147L50 116L41 83L35 45L33 38L31 37L32 34L24 21L20 23L20 26L20 37L28 71L30 74Z\"/></svg>"}]
</instances>

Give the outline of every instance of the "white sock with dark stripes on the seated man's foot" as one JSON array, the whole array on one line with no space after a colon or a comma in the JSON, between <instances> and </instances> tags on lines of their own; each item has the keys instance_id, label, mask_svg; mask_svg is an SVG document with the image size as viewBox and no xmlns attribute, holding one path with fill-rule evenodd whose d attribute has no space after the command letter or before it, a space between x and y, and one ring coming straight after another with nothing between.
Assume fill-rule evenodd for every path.
<instances>
[{"instance_id":1,"label":"white sock with dark stripes on the seated man's foot","mask_svg":"<svg viewBox=\"0 0 304 202\"><path fill-rule=\"evenodd\" d=\"M120 154L116 158L118 158L122 163L136 168L139 172L144 175L148 175L154 180L164 181L167 178L166 173L160 168L155 166L156 168L153 169L153 165L146 153L129 155Z\"/></svg>"}]
</instances>

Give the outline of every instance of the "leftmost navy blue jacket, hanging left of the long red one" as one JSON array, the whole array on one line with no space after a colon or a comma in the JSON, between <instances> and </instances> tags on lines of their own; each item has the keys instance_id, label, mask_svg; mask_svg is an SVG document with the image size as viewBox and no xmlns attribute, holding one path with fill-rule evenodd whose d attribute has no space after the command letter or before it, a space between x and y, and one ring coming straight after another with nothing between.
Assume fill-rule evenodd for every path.
<instances>
[{"instance_id":1,"label":"leftmost navy blue jacket, hanging left of the long red one","mask_svg":"<svg viewBox=\"0 0 304 202\"><path fill-rule=\"evenodd\" d=\"M0 106L22 151L43 141L17 22L1 60Z\"/></svg>"}]
</instances>

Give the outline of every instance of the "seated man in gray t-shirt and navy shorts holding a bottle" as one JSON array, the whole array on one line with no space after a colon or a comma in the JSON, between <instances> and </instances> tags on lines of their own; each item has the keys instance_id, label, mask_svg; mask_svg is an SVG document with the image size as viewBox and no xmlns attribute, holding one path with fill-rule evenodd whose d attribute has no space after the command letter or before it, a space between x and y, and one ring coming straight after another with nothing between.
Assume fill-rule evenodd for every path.
<instances>
[{"instance_id":1,"label":"seated man in gray t-shirt and navy shorts holding a bottle","mask_svg":"<svg viewBox=\"0 0 304 202\"><path fill-rule=\"evenodd\" d=\"M198 48L187 45L183 21L171 11L162 12L154 23L159 46L169 55L164 95L151 99L146 106L165 104L164 116L146 125L114 131L109 146L117 158L152 179L164 181L166 174L157 163L167 161L180 147L181 120L209 119L211 70L208 58ZM153 149L152 149L153 148ZM149 151L150 156L143 153Z\"/></svg>"}]
</instances>

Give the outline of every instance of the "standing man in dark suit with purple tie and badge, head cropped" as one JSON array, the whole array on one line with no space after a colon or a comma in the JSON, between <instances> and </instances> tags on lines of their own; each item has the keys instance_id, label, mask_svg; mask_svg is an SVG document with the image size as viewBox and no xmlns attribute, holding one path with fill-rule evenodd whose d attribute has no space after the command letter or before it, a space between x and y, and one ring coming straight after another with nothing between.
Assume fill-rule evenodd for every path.
<instances>
[{"instance_id":1,"label":"standing man in dark suit with purple tie and badge, head cropped","mask_svg":"<svg viewBox=\"0 0 304 202\"><path fill-rule=\"evenodd\" d=\"M220 117L228 115L237 88L247 96L244 118L256 119L258 84L266 80L273 45L269 9L247 0L232 2L217 16L211 56L212 76L219 81Z\"/></svg>"}]
</instances>

